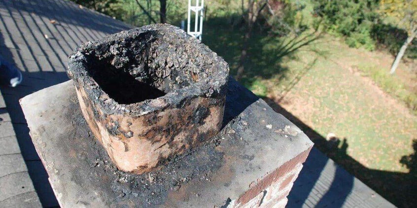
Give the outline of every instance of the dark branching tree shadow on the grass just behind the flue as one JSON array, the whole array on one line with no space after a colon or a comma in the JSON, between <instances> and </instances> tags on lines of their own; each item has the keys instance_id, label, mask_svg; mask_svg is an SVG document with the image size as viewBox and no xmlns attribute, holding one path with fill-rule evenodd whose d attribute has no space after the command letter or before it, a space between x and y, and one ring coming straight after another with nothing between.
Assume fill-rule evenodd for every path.
<instances>
[{"instance_id":1,"label":"dark branching tree shadow on the grass just behind the flue","mask_svg":"<svg viewBox=\"0 0 417 208\"><path fill-rule=\"evenodd\" d=\"M231 19L239 19L232 15ZM203 42L223 57L230 66L230 74L236 75L239 65L244 27L231 25L229 18L214 17L205 21ZM284 57L295 59L294 52L320 38L319 32L305 32L303 35L278 36L260 28L254 29L249 40L248 56L244 62L245 71L240 80L251 89L259 80L285 78L288 68L281 65Z\"/></svg>"}]
</instances>

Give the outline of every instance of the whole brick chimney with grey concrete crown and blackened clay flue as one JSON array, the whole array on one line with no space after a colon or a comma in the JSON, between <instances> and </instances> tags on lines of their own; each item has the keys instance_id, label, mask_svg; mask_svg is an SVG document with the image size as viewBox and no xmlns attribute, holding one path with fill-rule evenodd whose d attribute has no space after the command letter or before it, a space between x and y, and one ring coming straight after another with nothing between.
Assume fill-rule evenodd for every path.
<instances>
[{"instance_id":1,"label":"whole brick chimney with grey concrete crown and blackened clay flue","mask_svg":"<svg viewBox=\"0 0 417 208\"><path fill-rule=\"evenodd\" d=\"M228 70L169 25L76 49L20 101L60 205L285 207L313 143Z\"/></svg>"}]
</instances>

